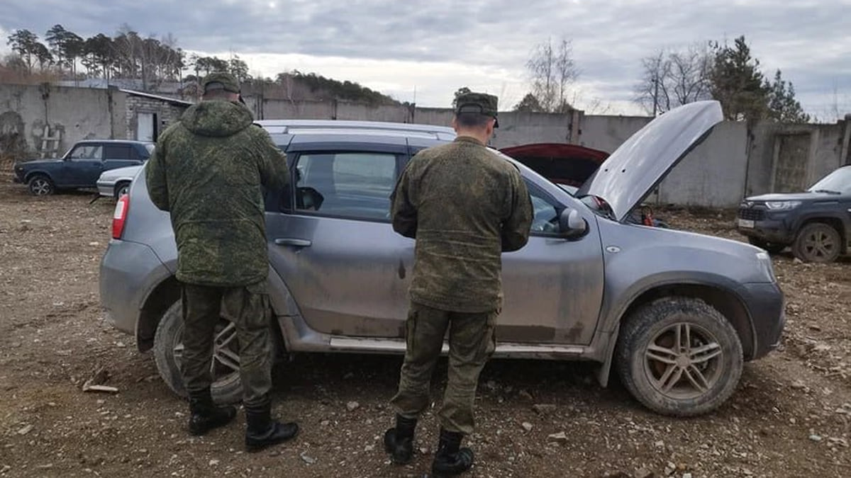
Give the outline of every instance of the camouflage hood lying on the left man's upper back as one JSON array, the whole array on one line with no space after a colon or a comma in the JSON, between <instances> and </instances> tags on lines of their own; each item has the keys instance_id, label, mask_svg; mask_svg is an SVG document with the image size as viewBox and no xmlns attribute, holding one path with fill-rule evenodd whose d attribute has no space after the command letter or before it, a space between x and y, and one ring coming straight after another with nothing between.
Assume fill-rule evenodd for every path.
<instances>
[{"instance_id":1,"label":"camouflage hood lying on the left man's upper back","mask_svg":"<svg viewBox=\"0 0 851 478\"><path fill-rule=\"evenodd\" d=\"M254 118L245 105L232 101L202 101L180 117L186 129L202 136L225 137L251 126Z\"/></svg>"}]
</instances>

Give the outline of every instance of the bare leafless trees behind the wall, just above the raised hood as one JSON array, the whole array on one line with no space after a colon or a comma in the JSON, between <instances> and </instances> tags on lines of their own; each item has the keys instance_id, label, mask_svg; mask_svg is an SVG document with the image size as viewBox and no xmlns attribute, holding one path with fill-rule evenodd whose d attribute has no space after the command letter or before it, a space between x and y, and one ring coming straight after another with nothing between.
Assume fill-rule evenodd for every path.
<instances>
[{"instance_id":1,"label":"bare leafless trees behind the wall, just above the raised hood","mask_svg":"<svg viewBox=\"0 0 851 478\"><path fill-rule=\"evenodd\" d=\"M655 116L679 105L711 98L711 55L702 43L679 50L660 49L641 60L643 77L635 100Z\"/></svg>"}]
</instances>

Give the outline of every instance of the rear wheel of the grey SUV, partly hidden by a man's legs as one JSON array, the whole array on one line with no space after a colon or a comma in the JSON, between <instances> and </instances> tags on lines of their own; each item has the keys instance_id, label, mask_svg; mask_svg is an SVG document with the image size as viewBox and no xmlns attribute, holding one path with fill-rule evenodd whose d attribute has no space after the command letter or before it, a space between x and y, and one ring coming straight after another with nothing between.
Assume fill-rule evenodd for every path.
<instances>
[{"instance_id":1,"label":"rear wheel of the grey SUV, partly hidden by a man's legs","mask_svg":"<svg viewBox=\"0 0 851 478\"><path fill-rule=\"evenodd\" d=\"M154 359L160 377L175 394L186 398L186 388L180 375L180 358L183 355L183 310L180 300L172 304L163 315L154 335ZM239 378L239 347L237 328L232 322L220 319L215 327L213 342L213 385L210 390L217 403L236 403L243 397Z\"/></svg>"}]
</instances>

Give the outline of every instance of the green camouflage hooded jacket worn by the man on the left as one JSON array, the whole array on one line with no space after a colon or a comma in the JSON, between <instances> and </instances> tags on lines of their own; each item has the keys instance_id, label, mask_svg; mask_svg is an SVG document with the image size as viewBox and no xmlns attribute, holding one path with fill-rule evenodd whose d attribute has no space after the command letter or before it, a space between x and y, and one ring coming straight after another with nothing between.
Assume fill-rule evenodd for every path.
<instances>
[{"instance_id":1,"label":"green camouflage hooded jacket worn by the man on the left","mask_svg":"<svg viewBox=\"0 0 851 478\"><path fill-rule=\"evenodd\" d=\"M163 131L146 165L147 188L157 208L171 213L180 282L237 287L266 279L260 186L283 187L286 165L236 102L192 105Z\"/></svg>"}]
</instances>

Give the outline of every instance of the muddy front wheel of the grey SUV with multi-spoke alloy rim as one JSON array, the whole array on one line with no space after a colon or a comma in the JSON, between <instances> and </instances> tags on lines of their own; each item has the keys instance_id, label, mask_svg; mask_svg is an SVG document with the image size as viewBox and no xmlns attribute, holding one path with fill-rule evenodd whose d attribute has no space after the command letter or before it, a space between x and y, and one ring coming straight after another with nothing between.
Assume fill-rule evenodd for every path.
<instances>
[{"instance_id":1,"label":"muddy front wheel of the grey SUV with multi-spoke alloy rim","mask_svg":"<svg viewBox=\"0 0 851 478\"><path fill-rule=\"evenodd\" d=\"M615 354L626 390L650 410L676 417L720 407L744 367L730 322L702 300L684 297L655 300L627 317Z\"/></svg>"}]
</instances>

